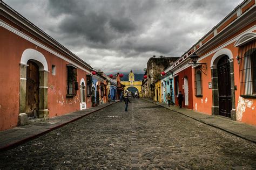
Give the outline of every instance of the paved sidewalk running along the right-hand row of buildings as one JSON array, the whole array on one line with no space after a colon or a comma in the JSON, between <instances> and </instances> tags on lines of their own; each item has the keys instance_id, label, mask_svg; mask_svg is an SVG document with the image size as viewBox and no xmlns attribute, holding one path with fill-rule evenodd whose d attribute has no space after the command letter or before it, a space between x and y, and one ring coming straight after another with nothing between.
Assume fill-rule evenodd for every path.
<instances>
[{"instance_id":1,"label":"paved sidewalk running along the right-hand row of buildings","mask_svg":"<svg viewBox=\"0 0 256 170\"><path fill-rule=\"evenodd\" d=\"M235 136L256 143L256 126L254 125L241 123L238 121L232 121L231 119L226 118L224 116L206 115L186 108L180 109L179 107L174 105L168 107L167 103L159 103L145 98L143 98L143 100L146 100L151 103L156 103L161 107L178 112L179 114L195 119L196 121L205 123L207 125L213 126L214 128L224 130L228 133L234 134Z\"/></svg>"}]
</instances>

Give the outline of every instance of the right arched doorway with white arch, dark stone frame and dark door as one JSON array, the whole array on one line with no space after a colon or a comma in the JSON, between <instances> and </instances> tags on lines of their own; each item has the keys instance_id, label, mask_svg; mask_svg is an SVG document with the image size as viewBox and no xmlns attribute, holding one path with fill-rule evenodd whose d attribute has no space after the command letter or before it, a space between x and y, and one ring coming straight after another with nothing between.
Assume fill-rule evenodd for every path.
<instances>
[{"instance_id":1,"label":"right arched doorway with white arch, dark stone frame and dark door","mask_svg":"<svg viewBox=\"0 0 256 170\"><path fill-rule=\"evenodd\" d=\"M212 115L231 117L236 120L234 62L230 49L217 51L211 60Z\"/></svg>"}]
</instances>

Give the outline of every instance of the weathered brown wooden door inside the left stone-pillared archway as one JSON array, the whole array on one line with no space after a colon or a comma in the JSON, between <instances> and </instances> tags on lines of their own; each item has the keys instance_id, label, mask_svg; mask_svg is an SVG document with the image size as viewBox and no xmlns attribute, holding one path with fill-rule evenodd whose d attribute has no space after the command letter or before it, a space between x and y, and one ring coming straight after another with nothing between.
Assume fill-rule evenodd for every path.
<instances>
[{"instance_id":1,"label":"weathered brown wooden door inside the left stone-pillared archway","mask_svg":"<svg viewBox=\"0 0 256 170\"><path fill-rule=\"evenodd\" d=\"M28 61L26 68L26 114L29 119L38 117L39 111L39 68Z\"/></svg>"}]
</instances>

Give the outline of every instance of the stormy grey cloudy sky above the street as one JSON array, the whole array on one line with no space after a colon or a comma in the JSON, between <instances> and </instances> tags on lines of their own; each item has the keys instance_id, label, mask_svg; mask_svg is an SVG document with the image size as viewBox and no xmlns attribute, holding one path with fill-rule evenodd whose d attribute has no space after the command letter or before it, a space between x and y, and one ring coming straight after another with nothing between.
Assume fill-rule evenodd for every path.
<instances>
[{"instance_id":1,"label":"stormy grey cloudy sky above the street","mask_svg":"<svg viewBox=\"0 0 256 170\"><path fill-rule=\"evenodd\" d=\"M3 0L93 68L143 73L181 56L242 0Z\"/></svg>"}]
</instances>

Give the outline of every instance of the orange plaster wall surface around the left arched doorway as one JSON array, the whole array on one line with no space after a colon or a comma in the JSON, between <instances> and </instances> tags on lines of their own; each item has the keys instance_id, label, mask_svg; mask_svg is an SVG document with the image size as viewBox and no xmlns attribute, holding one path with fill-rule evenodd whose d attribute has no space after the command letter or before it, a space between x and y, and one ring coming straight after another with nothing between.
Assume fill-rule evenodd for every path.
<instances>
[{"instance_id":1,"label":"orange plaster wall surface around the left arched doorway","mask_svg":"<svg viewBox=\"0 0 256 170\"><path fill-rule=\"evenodd\" d=\"M27 48L41 52L48 62L48 109L49 116L59 116L80 109L80 90L72 98L66 98L66 64L68 62L45 51L16 34L0 27L0 131L17 126L19 115L19 63L22 53ZM4 54L4 55L2 55ZM56 75L51 74L51 66L56 66ZM86 72L77 69L77 82L84 78ZM87 98L90 101L90 98ZM87 104L87 108L91 107Z\"/></svg>"}]
</instances>

